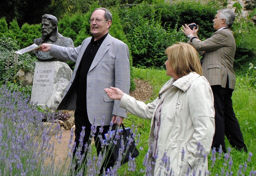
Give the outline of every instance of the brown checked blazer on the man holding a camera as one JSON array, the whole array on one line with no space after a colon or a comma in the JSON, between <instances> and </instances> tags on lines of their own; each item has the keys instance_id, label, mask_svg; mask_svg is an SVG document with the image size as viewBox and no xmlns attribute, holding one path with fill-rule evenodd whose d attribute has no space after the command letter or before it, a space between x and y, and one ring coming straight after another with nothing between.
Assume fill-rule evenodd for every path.
<instances>
[{"instance_id":1,"label":"brown checked blazer on the man holding a camera","mask_svg":"<svg viewBox=\"0 0 256 176\"><path fill-rule=\"evenodd\" d=\"M188 41L202 58L203 75L210 85L226 88L227 78L230 89L235 88L236 77L233 71L236 42L228 28L218 30L204 41L194 38Z\"/></svg>"}]
</instances>

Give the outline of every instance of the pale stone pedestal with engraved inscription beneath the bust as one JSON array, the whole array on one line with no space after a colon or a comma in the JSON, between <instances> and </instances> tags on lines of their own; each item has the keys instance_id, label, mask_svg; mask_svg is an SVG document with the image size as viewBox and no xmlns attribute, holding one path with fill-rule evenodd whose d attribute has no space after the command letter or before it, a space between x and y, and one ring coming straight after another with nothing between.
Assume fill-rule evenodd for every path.
<instances>
[{"instance_id":1,"label":"pale stone pedestal with engraved inscription beneath the bust","mask_svg":"<svg viewBox=\"0 0 256 176\"><path fill-rule=\"evenodd\" d=\"M72 70L64 62L36 62L31 102L42 109L57 109L71 76Z\"/></svg>"}]
</instances>

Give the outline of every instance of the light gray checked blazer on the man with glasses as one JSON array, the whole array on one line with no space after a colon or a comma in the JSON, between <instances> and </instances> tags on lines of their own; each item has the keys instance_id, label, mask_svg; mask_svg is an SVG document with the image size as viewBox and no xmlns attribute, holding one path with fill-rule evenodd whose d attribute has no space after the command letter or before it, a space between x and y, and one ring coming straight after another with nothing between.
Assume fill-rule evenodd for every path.
<instances>
[{"instance_id":1,"label":"light gray checked blazer on the man with glasses","mask_svg":"<svg viewBox=\"0 0 256 176\"><path fill-rule=\"evenodd\" d=\"M90 38L76 48L52 45L50 55L64 60L76 61L73 75L68 83L62 101L57 109L76 110L76 72ZM119 100L110 99L104 88L118 87L125 93L130 90L130 63L128 46L110 34L100 45L87 74L87 112L91 124L110 125L113 115L126 117L125 109L119 107ZM86 107L85 107L86 108ZM95 118L96 117L96 118ZM94 122L94 118L96 121Z\"/></svg>"}]
</instances>

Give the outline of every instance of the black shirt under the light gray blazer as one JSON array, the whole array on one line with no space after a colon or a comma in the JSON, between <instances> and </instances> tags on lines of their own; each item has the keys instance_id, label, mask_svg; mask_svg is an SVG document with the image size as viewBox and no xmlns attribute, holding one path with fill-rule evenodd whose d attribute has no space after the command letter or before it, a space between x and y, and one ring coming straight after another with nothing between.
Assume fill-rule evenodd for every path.
<instances>
[{"instance_id":1,"label":"black shirt under the light gray blazer","mask_svg":"<svg viewBox=\"0 0 256 176\"><path fill-rule=\"evenodd\" d=\"M90 44L84 51L80 66L77 71L77 83L76 83L76 111L87 112L86 109L86 86L87 86L87 73L92 65L92 61L100 48L100 45L104 41L108 34L102 36L102 38L94 41L92 37Z\"/></svg>"}]
</instances>

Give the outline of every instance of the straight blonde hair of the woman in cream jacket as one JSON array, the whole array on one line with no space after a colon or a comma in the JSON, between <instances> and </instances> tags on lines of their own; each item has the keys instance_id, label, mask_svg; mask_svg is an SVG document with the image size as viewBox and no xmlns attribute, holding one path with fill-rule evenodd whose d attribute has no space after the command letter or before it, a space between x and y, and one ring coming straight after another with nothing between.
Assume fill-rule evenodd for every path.
<instances>
[{"instance_id":1,"label":"straight blonde hair of the woman in cream jacket","mask_svg":"<svg viewBox=\"0 0 256 176\"><path fill-rule=\"evenodd\" d=\"M183 77L193 71L202 75L203 71L198 53L190 44L177 42L169 46L165 50L165 54L178 77Z\"/></svg>"}]
</instances>

